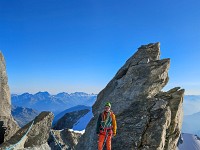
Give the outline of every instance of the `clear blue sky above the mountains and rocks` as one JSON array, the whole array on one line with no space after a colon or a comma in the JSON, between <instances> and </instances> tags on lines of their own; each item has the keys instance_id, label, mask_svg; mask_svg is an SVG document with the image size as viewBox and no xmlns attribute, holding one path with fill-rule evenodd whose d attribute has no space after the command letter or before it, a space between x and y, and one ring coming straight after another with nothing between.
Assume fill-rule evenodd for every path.
<instances>
[{"instance_id":1,"label":"clear blue sky above the mountains and rocks","mask_svg":"<svg viewBox=\"0 0 200 150\"><path fill-rule=\"evenodd\" d=\"M200 95L199 0L0 0L11 93L98 93L153 42L171 58L165 89Z\"/></svg>"}]
</instances>

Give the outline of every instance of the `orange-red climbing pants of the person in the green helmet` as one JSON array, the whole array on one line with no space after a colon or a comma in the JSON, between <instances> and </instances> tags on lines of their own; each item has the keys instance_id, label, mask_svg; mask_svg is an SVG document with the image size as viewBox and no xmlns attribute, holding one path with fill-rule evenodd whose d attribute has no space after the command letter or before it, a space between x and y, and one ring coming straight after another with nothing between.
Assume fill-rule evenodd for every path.
<instances>
[{"instance_id":1,"label":"orange-red climbing pants of the person in the green helmet","mask_svg":"<svg viewBox=\"0 0 200 150\"><path fill-rule=\"evenodd\" d=\"M107 136L107 138L106 138ZM105 139L106 138L106 139ZM104 144L104 140L106 140L106 144L104 145L104 147L106 146L106 150L111 150L111 139L112 139L112 133L107 133L106 132L100 132L99 134L99 141L98 141L98 150L103 150L103 144Z\"/></svg>"}]
</instances>

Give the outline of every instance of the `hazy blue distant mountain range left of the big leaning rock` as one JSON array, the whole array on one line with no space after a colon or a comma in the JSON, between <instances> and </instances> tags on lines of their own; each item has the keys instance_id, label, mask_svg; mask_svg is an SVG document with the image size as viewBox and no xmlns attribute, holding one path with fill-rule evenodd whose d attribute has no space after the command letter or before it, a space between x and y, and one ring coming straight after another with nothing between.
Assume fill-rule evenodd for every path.
<instances>
[{"instance_id":1,"label":"hazy blue distant mountain range left of the big leaning rock","mask_svg":"<svg viewBox=\"0 0 200 150\"><path fill-rule=\"evenodd\" d=\"M39 112L52 111L56 115L73 106L92 106L96 101L96 97L96 94L87 94L83 92L71 94L62 92L57 95L50 95L48 92L38 92L36 94L12 94L11 101L14 106L32 108Z\"/></svg>"}]
</instances>

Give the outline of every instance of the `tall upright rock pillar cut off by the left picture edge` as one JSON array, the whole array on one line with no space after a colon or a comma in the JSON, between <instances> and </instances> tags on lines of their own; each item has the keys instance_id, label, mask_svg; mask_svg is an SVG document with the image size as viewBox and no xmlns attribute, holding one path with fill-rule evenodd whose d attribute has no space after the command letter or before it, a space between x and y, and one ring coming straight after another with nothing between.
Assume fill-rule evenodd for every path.
<instances>
[{"instance_id":1,"label":"tall upright rock pillar cut off by the left picture edge","mask_svg":"<svg viewBox=\"0 0 200 150\"><path fill-rule=\"evenodd\" d=\"M0 52L0 121L6 128L4 141L7 141L19 129L17 123L11 116L10 90L8 87L8 77L6 74L5 60Z\"/></svg>"}]
</instances>

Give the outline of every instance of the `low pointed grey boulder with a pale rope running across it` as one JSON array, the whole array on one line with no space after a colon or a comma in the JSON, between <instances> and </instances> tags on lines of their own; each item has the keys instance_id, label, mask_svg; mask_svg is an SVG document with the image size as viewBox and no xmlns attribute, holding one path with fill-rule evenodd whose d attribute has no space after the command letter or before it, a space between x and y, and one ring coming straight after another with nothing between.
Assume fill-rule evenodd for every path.
<instances>
[{"instance_id":1,"label":"low pointed grey boulder with a pale rope running across it","mask_svg":"<svg viewBox=\"0 0 200 150\"><path fill-rule=\"evenodd\" d=\"M25 125L17 133L11 137L7 142L4 142L0 149L5 149L19 142L16 149L23 149L28 147L40 147L47 143L49 133L53 121L53 114L51 112L41 112L32 122ZM31 127L32 125L32 127ZM30 128L31 127L31 128ZM30 128L30 131L27 132ZM26 133L28 133L26 135ZM26 136L24 136L26 135ZM21 140L22 139L22 140Z\"/></svg>"}]
</instances>

